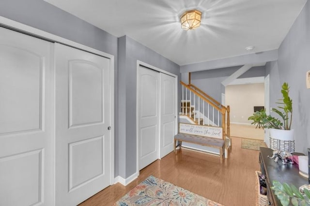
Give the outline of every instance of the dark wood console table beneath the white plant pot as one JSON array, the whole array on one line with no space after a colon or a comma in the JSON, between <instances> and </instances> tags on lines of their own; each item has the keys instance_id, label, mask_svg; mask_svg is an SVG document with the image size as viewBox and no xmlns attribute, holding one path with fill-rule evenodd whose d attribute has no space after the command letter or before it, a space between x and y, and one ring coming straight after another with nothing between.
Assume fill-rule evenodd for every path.
<instances>
[{"instance_id":1,"label":"dark wood console table beneath the white plant pot","mask_svg":"<svg viewBox=\"0 0 310 206\"><path fill-rule=\"evenodd\" d=\"M281 203L274 191L270 189L273 180L279 182L287 182L288 184L294 184L297 188L301 185L308 183L308 178L299 175L299 169L297 164L282 164L281 161L275 162L274 159L268 158L272 156L273 150L266 147L260 147L259 161L261 165L262 174L266 176L267 183L267 197L270 205L281 206ZM293 153L293 155L304 155L302 153Z\"/></svg>"}]
</instances>

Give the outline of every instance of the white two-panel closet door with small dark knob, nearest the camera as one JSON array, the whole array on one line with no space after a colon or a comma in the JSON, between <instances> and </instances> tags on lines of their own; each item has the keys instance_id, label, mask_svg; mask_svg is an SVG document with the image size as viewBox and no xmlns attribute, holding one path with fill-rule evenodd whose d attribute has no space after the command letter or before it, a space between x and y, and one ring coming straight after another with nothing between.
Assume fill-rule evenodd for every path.
<instances>
[{"instance_id":1,"label":"white two-panel closet door with small dark knob, nearest the camera","mask_svg":"<svg viewBox=\"0 0 310 206\"><path fill-rule=\"evenodd\" d=\"M111 184L110 59L55 44L56 205Z\"/></svg>"}]
</instances>

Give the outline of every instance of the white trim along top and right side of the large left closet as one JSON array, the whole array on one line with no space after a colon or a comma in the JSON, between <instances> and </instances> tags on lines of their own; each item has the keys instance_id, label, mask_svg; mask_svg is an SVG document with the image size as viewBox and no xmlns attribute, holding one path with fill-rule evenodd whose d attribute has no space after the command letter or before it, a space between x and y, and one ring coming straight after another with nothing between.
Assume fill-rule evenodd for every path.
<instances>
[{"instance_id":1,"label":"white trim along top and right side of the large left closet","mask_svg":"<svg viewBox=\"0 0 310 206\"><path fill-rule=\"evenodd\" d=\"M94 48L91 48L89 46L86 46L86 45L83 45L83 44L79 44L79 43L76 43L76 42L73 42L71 40L68 40L68 39L65 39L65 38L62 38L60 36L57 36L57 35L54 35L54 34L51 34L51 33L48 33L46 31L43 31L43 30L40 30L40 29L36 29L36 28L33 28L31 26L28 26L28 25L25 25L25 24L22 24L22 23L19 23L19 22L16 22L16 21L13 21L11 19L8 19L8 18L5 18L3 16L0 16L0 25L3 25L3 26L7 26L9 28L12 28L12 29L16 29L17 31L22 31L22 32L25 32L25 33L30 33L30 34L33 34L34 36L37 36L37 37L41 37L41 38L44 38L44 39L49 39L49 40L52 40L52 41L55 41L57 43L60 43L60 44L65 44L65 45L69 45L69 46L73 46L73 47L76 47L78 49L81 49L81 50L84 50L84 51L87 51L87 52L91 52L93 54L97 54L97 55L100 55L100 56L103 56L105 58L108 58L110 59L110 83L111 83L111 90L110 90L110 93L111 93L111 142L110 142L110 147L111 147L111 177L110 177L110 184L112 184L112 182L114 181L114 56L113 55L110 55L108 53L105 53L105 52L102 52L100 50L97 50L97 49L94 49ZM54 94L55 95L55 94ZM56 196L56 195L55 195Z\"/></svg>"}]
</instances>

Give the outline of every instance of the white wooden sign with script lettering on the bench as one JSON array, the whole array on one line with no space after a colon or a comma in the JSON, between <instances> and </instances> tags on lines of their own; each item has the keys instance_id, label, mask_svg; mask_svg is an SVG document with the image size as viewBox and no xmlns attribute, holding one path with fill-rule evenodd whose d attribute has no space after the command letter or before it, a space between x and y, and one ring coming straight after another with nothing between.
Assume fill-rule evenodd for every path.
<instances>
[{"instance_id":1,"label":"white wooden sign with script lettering on the bench","mask_svg":"<svg viewBox=\"0 0 310 206\"><path fill-rule=\"evenodd\" d=\"M179 123L179 132L222 139L223 128L197 124Z\"/></svg>"}]
</instances>

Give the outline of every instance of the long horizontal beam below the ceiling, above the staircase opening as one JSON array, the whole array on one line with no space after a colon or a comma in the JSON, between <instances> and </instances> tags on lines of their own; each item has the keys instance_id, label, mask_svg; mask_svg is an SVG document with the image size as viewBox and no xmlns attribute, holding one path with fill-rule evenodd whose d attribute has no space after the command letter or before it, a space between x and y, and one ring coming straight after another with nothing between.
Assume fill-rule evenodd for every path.
<instances>
[{"instance_id":1,"label":"long horizontal beam below the ceiling, above the staircase opening","mask_svg":"<svg viewBox=\"0 0 310 206\"><path fill-rule=\"evenodd\" d=\"M261 64L262 62L275 60L278 60L278 49L259 52L257 54L248 54L226 59L217 59L201 63L187 64L180 66L180 73L198 72L203 70L240 66L246 64L252 64L256 66L256 64Z\"/></svg>"}]
</instances>

